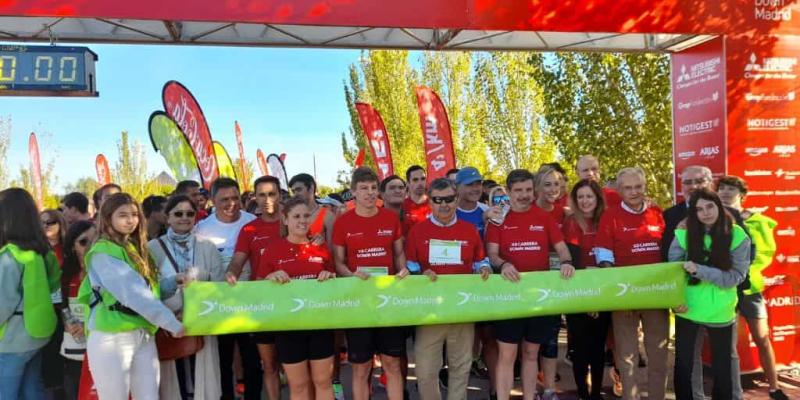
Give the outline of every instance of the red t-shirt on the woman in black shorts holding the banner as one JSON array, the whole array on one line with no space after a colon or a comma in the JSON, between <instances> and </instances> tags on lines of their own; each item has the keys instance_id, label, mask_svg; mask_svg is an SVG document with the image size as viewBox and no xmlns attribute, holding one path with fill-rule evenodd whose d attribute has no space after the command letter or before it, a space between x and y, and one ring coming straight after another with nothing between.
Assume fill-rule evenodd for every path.
<instances>
[{"instance_id":1,"label":"red t-shirt on the woman in black shorts holding the banner","mask_svg":"<svg viewBox=\"0 0 800 400\"><path fill-rule=\"evenodd\" d=\"M273 241L261 257L255 277L261 280L278 270L286 272L292 279L317 279L323 270L333 272L328 245L295 244L286 239Z\"/></svg>"}]
</instances>

